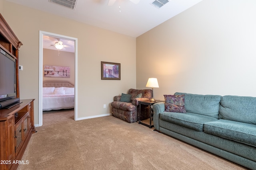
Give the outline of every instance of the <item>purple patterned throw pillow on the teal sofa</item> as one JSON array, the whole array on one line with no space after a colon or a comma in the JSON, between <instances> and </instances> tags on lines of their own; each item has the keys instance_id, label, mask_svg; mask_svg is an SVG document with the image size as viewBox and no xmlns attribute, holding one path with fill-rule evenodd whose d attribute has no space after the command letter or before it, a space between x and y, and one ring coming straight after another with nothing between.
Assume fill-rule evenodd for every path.
<instances>
[{"instance_id":1,"label":"purple patterned throw pillow on the teal sofa","mask_svg":"<svg viewBox=\"0 0 256 170\"><path fill-rule=\"evenodd\" d=\"M185 95L164 95L164 100L164 111L186 113L184 107Z\"/></svg>"}]
</instances>

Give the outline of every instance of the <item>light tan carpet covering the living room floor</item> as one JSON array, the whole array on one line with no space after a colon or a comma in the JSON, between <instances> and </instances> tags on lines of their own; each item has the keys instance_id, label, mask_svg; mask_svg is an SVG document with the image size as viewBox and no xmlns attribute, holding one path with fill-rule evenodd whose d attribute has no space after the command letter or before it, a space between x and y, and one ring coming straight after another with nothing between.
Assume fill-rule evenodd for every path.
<instances>
[{"instance_id":1,"label":"light tan carpet covering the living room floor","mask_svg":"<svg viewBox=\"0 0 256 170\"><path fill-rule=\"evenodd\" d=\"M49 111L18 170L243 170L238 164L113 116L74 121Z\"/></svg>"}]
</instances>

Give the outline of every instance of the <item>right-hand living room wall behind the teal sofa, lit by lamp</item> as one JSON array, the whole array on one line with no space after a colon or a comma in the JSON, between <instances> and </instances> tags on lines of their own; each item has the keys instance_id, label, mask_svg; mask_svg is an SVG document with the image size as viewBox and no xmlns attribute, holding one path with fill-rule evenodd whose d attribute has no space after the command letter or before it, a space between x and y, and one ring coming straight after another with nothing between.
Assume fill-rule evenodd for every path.
<instances>
[{"instance_id":1,"label":"right-hand living room wall behind the teal sofa, lit by lamp","mask_svg":"<svg viewBox=\"0 0 256 170\"><path fill-rule=\"evenodd\" d=\"M136 39L137 88L256 96L256 1L203 0Z\"/></svg>"}]
</instances>

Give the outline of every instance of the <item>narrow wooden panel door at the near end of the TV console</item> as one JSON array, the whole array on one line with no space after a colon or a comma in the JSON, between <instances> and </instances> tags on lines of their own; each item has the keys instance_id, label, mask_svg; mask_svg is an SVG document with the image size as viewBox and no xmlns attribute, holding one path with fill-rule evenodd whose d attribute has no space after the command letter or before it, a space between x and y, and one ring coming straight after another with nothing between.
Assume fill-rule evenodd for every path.
<instances>
[{"instance_id":1,"label":"narrow wooden panel door at the near end of the TV console","mask_svg":"<svg viewBox=\"0 0 256 170\"><path fill-rule=\"evenodd\" d=\"M8 129L7 129L7 156L8 156L8 160L10 160L11 162L13 162L14 158L15 158L15 151L14 151L14 115L11 115L8 118ZM12 166L12 164L8 164L8 169L10 169L10 167Z\"/></svg>"}]
</instances>

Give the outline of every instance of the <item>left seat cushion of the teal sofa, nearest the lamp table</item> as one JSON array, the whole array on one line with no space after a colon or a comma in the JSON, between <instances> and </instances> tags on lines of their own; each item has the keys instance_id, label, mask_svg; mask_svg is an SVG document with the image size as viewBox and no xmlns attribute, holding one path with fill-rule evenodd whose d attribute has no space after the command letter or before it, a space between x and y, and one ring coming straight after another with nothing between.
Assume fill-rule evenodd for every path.
<instances>
[{"instance_id":1,"label":"left seat cushion of the teal sofa, nearest the lamp table","mask_svg":"<svg viewBox=\"0 0 256 170\"><path fill-rule=\"evenodd\" d=\"M218 120L215 117L199 115L195 113L162 112L160 119L182 125L196 131L203 131L204 123Z\"/></svg>"}]
</instances>

